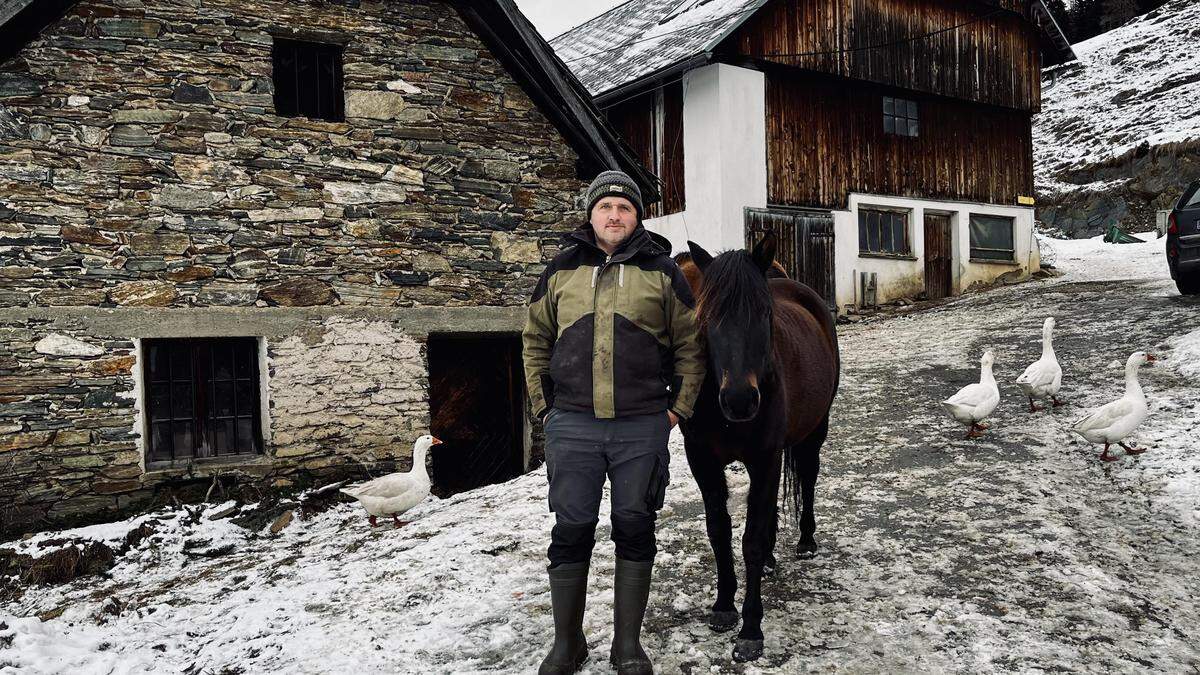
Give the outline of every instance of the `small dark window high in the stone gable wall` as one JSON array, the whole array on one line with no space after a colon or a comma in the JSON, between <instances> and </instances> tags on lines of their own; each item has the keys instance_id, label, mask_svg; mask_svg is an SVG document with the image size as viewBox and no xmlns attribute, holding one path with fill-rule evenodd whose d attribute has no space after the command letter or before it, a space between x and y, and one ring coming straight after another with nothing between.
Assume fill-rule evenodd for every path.
<instances>
[{"instance_id":1,"label":"small dark window high in the stone gable wall","mask_svg":"<svg viewBox=\"0 0 1200 675\"><path fill-rule=\"evenodd\" d=\"M342 47L275 38L275 113L286 117L342 121Z\"/></svg>"}]
</instances>

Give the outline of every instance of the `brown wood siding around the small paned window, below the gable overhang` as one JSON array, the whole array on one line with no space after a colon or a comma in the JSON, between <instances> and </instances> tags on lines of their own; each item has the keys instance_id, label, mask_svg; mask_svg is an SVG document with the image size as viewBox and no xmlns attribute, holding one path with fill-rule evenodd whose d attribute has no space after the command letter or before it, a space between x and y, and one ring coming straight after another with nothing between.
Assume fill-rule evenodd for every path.
<instances>
[{"instance_id":1,"label":"brown wood siding around the small paned window, below the gable overhang","mask_svg":"<svg viewBox=\"0 0 1200 675\"><path fill-rule=\"evenodd\" d=\"M1016 204L1033 195L1027 112L778 68L767 76L768 199L845 208L851 192ZM917 138L883 132L882 97L916 98Z\"/></svg>"}]
</instances>

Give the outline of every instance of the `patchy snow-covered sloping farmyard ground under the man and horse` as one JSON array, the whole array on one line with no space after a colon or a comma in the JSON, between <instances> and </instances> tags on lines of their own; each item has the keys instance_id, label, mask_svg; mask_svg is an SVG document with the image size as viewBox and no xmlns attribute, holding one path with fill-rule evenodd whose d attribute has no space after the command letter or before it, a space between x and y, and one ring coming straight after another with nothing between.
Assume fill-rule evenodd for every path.
<instances>
[{"instance_id":1,"label":"patchy snow-covered sloping farmyard ground under the man and horse","mask_svg":"<svg viewBox=\"0 0 1200 675\"><path fill-rule=\"evenodd\" d=\"M661 671L1200 669L1200 304L1164 279L1159 241L1050 245L1062 279L842 330L822 551L796 560L785 522L758 663L732 663L732 634L704 625L712 554L672 437L644 639ZM1050 315L1068 406L1030 414L1010 382ZM984 348L1003 400L971 442L937 401L978 377ZM1135 350L1162 358L1142 377L1151 417L1138 440L1150 450L1103 464L1067 428L1120 395ZM730 480L740 526L748 482L738 470ZM551 635L545 484L538 470L430 500L401 530L371 531L346 503L277 536L163 510L10 543L157 530L104 578L0 605L0 673L532 671ZM584 620L592 674L611 673L612 568L601 540Z\"/></svg>"}]
</instances>

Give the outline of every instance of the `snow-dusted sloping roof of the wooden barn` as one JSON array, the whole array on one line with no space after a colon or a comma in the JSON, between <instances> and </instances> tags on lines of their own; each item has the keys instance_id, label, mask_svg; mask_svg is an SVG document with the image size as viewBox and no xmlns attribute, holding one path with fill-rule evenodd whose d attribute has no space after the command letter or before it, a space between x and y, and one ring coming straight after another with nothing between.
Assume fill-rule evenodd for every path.
<instances>
[{"instance_id":1,"label":"snow-dusted sloping roof of the wooden barn","mask_svg":"<svg viewBox=\"0 0 1200 675\"><path fill-rule=\"evenodd\" d=\"M593 96L714 48L767 0L629 0L550 41Z\"/></svg>"}]
</instances>

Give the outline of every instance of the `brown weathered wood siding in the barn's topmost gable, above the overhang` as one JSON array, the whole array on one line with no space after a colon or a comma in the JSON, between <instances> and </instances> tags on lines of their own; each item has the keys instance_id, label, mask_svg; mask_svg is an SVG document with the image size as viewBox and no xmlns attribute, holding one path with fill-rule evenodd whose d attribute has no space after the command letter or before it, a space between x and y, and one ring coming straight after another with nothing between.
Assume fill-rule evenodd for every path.
<instances>
[{"instance_id":1,"label":"brown weathered wood siding in the barn's topmost gable, above the overhang","mask_svg":"<svg viewBox=\"0 0 1200 675\"><path fill-rule=\"evenodd\" d=\"M1015 11L1014 11L1015 10ZM778 0L726 44L810 71L1037 112L1030 0Z\"/></svg>"}]
</instances>

